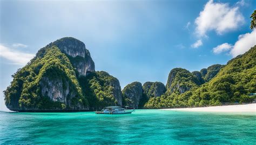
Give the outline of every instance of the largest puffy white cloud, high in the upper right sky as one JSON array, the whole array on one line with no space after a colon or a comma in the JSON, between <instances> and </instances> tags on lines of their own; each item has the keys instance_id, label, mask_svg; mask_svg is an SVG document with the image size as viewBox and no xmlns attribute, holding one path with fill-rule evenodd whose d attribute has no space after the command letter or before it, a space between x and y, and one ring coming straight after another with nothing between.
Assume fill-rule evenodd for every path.
<instances>
[{"instance_id":1,"label":"largest puffy white cloud, high in the upper right sky","mask_svg":"<svg viewBox=\"0 0 256 145\"><path fill-rule=\"evenodd\" d=\"M231 7L228 3L214 3L210 0L196 18L195 23L196 33L203 37L207 31L211 30L218 34L235 30L244 23L244 17L238 6Z\"/></svg>"}]
</instances>

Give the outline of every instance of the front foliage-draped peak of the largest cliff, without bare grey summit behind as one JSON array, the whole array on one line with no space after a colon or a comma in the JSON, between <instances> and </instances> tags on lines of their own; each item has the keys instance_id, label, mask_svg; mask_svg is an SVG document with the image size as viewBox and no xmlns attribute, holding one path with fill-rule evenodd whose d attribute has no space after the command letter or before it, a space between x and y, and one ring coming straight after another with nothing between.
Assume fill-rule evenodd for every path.
<instances>
[{"instance_id":1,"label":"front foliage-draped peak of the largest cliff, without bare grey summit behind","mask_svg":"<svg viewBox=\"0 0 256 145\"><path fill-rule=\"evenodd\" d=\"M19 69L4 95L6 106L13 111L89 109L75 69L55 45L42 48Z\"/></svg>"}]
</instances>

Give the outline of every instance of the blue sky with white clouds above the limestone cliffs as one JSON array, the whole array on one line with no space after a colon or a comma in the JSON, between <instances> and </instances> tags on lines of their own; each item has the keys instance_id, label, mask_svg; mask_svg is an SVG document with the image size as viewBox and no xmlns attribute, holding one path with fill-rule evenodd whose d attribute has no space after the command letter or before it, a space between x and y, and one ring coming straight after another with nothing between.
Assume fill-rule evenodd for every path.
<instances>
[{"instance_id":1,"label":"blue sky with white clouds above the limestone cliffs","mask_svg":"<svg viewBox=\"0 0 256 145\"><path fill-rule=\"evenodd\" d=\"M85 43L120 85L166 84L173 68L226 64L256 45L256 1L0 1L0 110L11 75L50 42Z\"/></svg>"}]
</instances>

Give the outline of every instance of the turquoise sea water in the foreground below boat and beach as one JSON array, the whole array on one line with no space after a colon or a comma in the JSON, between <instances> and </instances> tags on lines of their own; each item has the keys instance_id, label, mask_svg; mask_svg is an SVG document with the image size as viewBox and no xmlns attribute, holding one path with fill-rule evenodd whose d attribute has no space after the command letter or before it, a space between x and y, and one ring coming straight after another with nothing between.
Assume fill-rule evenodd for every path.
<instances>
[{"instance_id":1,"label":"turquoise sea water in the foreground below boat and beach","mask_svg":"<svg viewBox=\"0 0 256 145\"><path fill-rule=\"evenodd\" d=\"M255 113L0 112L0 144L255 144Z\"/></svg>"}]
</instances>

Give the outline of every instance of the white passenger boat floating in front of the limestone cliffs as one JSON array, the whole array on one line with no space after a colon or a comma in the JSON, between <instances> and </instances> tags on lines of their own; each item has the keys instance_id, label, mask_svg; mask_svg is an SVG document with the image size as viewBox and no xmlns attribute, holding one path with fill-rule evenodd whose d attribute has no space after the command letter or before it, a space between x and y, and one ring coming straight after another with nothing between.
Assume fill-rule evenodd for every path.
<instances>
[{"instance_id":1,"label":"white passenger boat floating in front of the limestone cliffs","mask_svg":"<svg viewBox=\"0 0 256 145\"><path fill-rule=\"evenodd\" d=\"M126 110L125 108L119 107L119 106L110 106L110 107L104 107L102 111L96 111L96 114L130 114L135 110Z\"/></svg>"}]
</instances>

